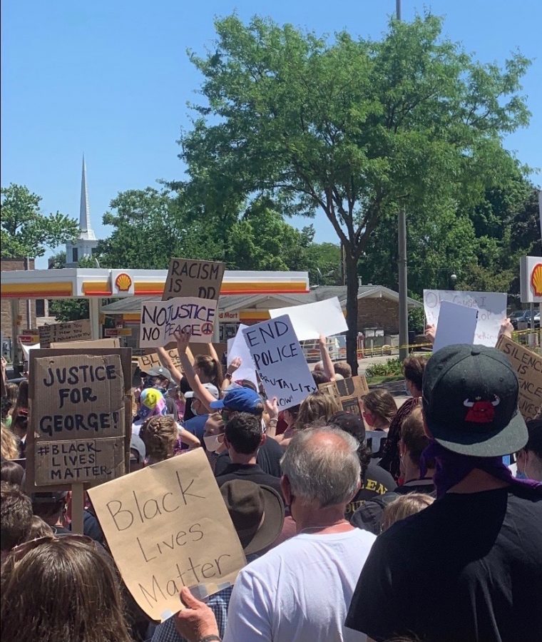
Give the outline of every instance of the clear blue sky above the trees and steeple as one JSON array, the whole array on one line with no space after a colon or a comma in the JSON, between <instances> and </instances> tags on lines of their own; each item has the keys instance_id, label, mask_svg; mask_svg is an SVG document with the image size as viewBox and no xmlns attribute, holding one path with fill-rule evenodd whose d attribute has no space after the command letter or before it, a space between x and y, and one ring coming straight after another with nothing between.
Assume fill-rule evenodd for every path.
<instances>
[{"instance_id":1,"label":"clear blue sky above the trees and steeple","mask_svg":"<svg viewBox=\"0 0 542 642\"><path fill-rule=\"evenodd\" d=\"M523 83L531 126L506 146L540 167L542 1L402 5L404 20L424 8L445 16L445 34L481 61L503 63L516 48L535 58ZM118 192L183 173L175 141L190 126L186 102L198 99L201 80L186 50L213 49L215 16L260 14L317 34L347 29L377 38L394 10L394 0L4 0L1 185L27 185L44 211L78 216L84 151L93 225L106 236L101 217ZM334 238L324 218L315 227L317 240Z\"/></svg>"}]
</instances>

